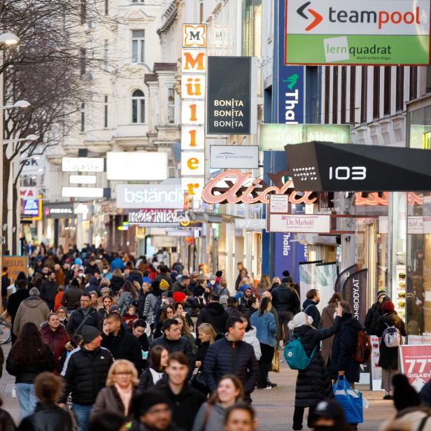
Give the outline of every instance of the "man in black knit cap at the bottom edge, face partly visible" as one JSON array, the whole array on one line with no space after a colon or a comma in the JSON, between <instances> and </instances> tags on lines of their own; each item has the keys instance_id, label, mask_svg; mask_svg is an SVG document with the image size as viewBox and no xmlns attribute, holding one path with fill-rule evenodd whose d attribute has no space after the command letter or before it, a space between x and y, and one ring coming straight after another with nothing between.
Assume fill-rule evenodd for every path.
<instances>
[{"instance_id":1,"label":"man in black knit cap at the bottom edge, face partly visible","mask_svg":"<svg viewBox=\"0 0 431 431\"><path fill-rule=\"evenodd\" d=\"M172 422L169 400L154 388L134 398L134 421L130 431L185 431Z\"/></svg>"}]
</instances>

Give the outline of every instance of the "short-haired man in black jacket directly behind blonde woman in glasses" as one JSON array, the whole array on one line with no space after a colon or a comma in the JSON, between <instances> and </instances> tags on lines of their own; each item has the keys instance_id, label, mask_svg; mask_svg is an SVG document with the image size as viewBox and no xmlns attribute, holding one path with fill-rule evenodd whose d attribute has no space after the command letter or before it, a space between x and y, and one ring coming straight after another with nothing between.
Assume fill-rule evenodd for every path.
<instances>
[{"instance_id":1,"label":"short-haired man in black jacket directly behind blonde woman in glasses","mask_svg":"<svg viewBox=\"0 0 431 431\"><path fill-rule=\"evenodd\" d=\"M105 323L101 345L112 353L114 359L127 359L132 362L140 375L143 364L139 340L122 328L120 314L108 314L105 318Z\"/></svg>"}]
</instances>

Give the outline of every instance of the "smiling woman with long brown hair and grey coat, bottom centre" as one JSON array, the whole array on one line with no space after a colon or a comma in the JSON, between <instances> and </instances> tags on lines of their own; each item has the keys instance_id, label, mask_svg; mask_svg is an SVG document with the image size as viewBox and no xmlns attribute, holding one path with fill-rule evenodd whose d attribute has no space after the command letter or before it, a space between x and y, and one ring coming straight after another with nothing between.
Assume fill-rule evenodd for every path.
<instances>
[{"instance_id":1,"label":"smiling woman with long brown hair and grey coat, bottom centre","mask_svg":"<svg viewBox=\"0 0 431 431\"><path fill-rule=\"evenodd\" d=\"M243 400L243 386L238 377L227 374L218 382L208 402L197 412L192 431L224 430L226 410Z\"/></svg>"}]
</instances>

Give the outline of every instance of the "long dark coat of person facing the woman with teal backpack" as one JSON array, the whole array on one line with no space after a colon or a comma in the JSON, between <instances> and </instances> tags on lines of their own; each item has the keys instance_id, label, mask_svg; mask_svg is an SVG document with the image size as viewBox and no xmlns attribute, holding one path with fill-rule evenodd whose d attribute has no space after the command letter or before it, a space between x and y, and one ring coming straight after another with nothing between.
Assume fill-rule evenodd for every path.
<instances>
[{"instance_id":1,"label":"long dark coat of person facing the woman with teal backpack","mask_svg":"<svg viewBox=\"0 0 431 431\"><path fill-rule=\"evenodd\" d=\"M338 372L344 371L349 382L359 381L360 365L355 362L354 355L358 344L358 332L362 325L351 316L345 314L341 318L339 332L332 343L331 376L337 379Z\"/></svg>"}]
</instances>

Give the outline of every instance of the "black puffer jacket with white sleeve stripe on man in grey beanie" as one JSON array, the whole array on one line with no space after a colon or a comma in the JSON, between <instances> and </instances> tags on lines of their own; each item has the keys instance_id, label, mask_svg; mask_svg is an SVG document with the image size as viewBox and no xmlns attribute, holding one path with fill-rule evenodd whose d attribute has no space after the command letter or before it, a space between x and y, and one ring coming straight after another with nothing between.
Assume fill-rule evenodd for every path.
<instances>
[{"instance_id":1,"label":"black puffer jacket with white sleeve stripe on man in grey beanie","mask_svg":"<svg viewBox=\"0 0 431 431\"><path fill-rule=\"evenodd\" d=\"M109 368L113 365L111 352L99 347L94 351L76 348L66 358L62 370L65 386L60 403L65 403L69 393L76 404L90 406L97 394L105 387Z\"/></svg>"}]
</instances>

